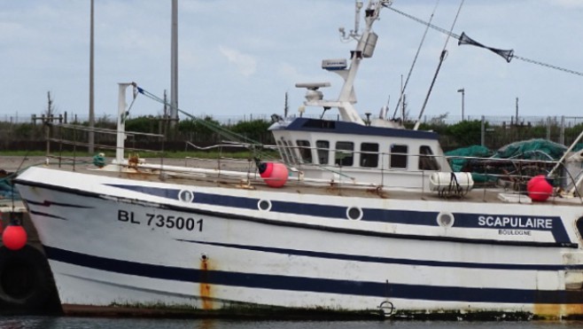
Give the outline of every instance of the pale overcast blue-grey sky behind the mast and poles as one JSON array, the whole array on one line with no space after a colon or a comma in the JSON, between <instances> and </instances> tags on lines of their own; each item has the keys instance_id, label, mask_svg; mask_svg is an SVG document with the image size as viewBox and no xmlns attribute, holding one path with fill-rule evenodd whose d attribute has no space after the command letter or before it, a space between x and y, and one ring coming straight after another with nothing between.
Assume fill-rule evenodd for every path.
<instances>
[{"instance_id":1,"label":"pale overcast blue-grey sky behind the mast and poles","mask_svg":"<svg viewBox=\"0 0 583 329\"><path fill-rule=\"evenodd\" d=\"M366 2L365 2L366 3ZM89 0L0 1L0 114L24 118L46 111L47 91L57 113L89 113ZM347 58L338 27L354 28L353 0L178 0L179 107L217 119L283 114L284 95L295 113L304 90L296 82L341 78L322 59ZM395 0L393 7L429 20L436 0ZM460 2L441 0L433 24L449 29ZM170 0L95 0L96 116L115 117L117 82L137 82L162 97L170 92ZM583 1L466 0L454 33L517 56L583 72ZM390 98L393 112L424 25L383 10L374 30L375 56L361 65L355 90L361 114L377 115ZM408 85L408 112L419 113L446 35L430 30ZM583 116L583 76L447 43L427 115ZM404 79L404 78L403 78ZM311 109L320 114L320 109ZM133 116L161 114L138 98ZM21 119L22 120L22 119Z\"/></svg>"}]
</instances>

